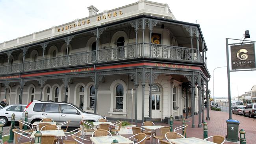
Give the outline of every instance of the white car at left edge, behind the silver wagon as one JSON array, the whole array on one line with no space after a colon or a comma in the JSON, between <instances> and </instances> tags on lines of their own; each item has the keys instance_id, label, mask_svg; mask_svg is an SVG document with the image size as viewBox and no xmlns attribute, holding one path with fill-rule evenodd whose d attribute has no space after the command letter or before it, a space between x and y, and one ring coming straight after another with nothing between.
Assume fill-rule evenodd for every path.
<instances>
[{"instance_id":1,"label":"white car at left edge, behind the silver wagon","mask_svg":"<svg viewBox=\"0 0 256 144\"><path fill-rule=\"evenodd\" d=\"M4 126L11 122L11 114L15 114L15 122L20 120L23 110L25 109L26 105L7 105L6 107L2 107L0 109L0 122Z\"/></svg>"}]
</instances>

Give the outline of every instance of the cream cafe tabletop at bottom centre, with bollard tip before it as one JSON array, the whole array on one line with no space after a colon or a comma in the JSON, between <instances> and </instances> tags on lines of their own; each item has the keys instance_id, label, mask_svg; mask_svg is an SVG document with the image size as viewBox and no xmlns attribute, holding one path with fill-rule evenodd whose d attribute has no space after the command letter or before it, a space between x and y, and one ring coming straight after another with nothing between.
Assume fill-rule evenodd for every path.
<instances>
[{"instance_id":1,"label":"cream cafe tabletop at bottom centre, with bollard tip before it","mask_svg":"<svg viewBox=\"0 0 256 144\"><path fill-rule=\"evenodd\" d=\"M113 140L117 140L120 144L133 144L132 140L121 135L106 136L106 137L90 137L93 144L111 144Z\"/></svg>"}]
</instances>

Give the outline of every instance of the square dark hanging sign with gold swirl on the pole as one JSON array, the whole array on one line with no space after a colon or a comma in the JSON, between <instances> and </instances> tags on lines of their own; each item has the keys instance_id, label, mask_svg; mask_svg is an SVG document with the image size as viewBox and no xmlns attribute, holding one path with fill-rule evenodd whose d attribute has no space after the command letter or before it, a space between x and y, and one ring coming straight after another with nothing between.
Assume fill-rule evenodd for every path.
<instances>
[{"instance_id":1,"label":"square dark hanging sign with gold swirl on the pole","mask_svg":"<svg viewBox=\"0 0 256 144\"><path fill-rule=\"evenodd\" d=\"M234 45L230 48L232 70L256 68L254 44Z\"/></svg>"}]
</instances>

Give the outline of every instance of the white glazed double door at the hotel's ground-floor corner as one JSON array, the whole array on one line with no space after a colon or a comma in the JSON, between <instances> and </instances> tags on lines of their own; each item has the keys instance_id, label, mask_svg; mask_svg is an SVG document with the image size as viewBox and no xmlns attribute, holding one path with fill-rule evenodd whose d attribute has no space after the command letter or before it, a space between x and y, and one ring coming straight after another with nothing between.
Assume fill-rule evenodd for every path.
<instances>
[{"instance_id":1,"label":"white glazed double door at the hotel's ground-floor corner","mask_svg":"<svg viewBox=\"0 0 256 144\"><path fill-rule=\"evenodd\" d=\"M152 94L152 118L161 118L161 94Z\"/></svg>"}]
</instances>

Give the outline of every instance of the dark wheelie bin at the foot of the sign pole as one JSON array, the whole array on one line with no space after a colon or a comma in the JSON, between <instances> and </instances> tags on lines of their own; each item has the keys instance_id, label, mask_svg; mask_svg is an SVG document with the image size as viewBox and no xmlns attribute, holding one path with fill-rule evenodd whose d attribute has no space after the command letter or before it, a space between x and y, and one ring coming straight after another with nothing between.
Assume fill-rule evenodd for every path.
<instances>
[{"instance_id":1,"label":"dark wheelie bin at the foot of the sign pole","mask_svg":"<svg viewBox=\"0 0 256 144\"><path fill-rule=\"evenodd\" d=\"M227 123L227 140L230 142L237 142L238 141L238 130L239 130L239 120L226 120Z\"/></svg>"}]
</instances>

